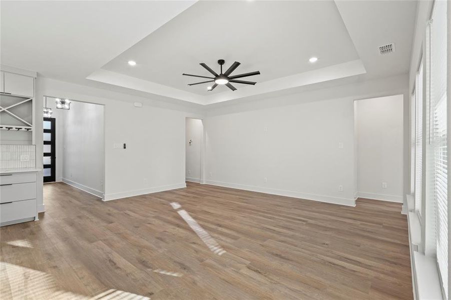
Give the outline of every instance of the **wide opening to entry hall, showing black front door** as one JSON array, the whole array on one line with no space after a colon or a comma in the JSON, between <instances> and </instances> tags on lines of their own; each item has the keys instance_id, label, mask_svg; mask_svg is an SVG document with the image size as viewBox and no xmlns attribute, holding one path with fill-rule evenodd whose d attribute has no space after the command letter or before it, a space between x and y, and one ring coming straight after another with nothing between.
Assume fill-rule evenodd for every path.
<instances>
[{"instance_id":1,"label":"wide opening to entry hall, showing black front door","mask_svg":"<svg viewBox=\"0 0 451 300\"><path fill-rule=\"evenodd\" d=\"M52 113L43 118L43 182L64 182L103 199L104 105L72 99L62 105L58 101L62 98L44 98L44 106ZM45 184L44 189L44 201L51 199L51 185Z\"/></svg>"}]
</instances>

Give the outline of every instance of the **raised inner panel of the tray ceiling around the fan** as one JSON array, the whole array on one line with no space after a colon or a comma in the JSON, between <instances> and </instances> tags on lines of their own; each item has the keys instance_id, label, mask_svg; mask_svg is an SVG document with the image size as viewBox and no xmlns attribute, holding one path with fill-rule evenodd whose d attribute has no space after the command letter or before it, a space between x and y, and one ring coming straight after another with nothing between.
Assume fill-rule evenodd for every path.
<instances>
[{"instance_id":1,"label":"raised inner panel of the tray ceiling around the fan","mask_svg":"<svg viewBox=\"0 0 451 300\"><path fill-rule=\"evenodd\" d=\"M319 60L312 64L311 56ZM220 58L224 71L236 60L241 65L233 74L260 70L244 80L263 82L359 57L331 0L199 1L103 68L207 95L230 89L188 86L207 79L182 73L210 76L200 62L219 73ZM130 59L138 64L128 65Z\"/></svg>"}]
</instances>

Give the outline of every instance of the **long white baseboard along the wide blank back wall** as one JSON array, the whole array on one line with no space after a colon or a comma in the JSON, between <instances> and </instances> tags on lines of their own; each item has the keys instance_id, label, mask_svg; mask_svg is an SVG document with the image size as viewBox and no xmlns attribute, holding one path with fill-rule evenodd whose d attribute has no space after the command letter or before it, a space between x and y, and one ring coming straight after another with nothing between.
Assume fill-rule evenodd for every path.
<instances>
[{"instance_id":1,"label":"long white baseboard along the wide blank back wall","mask_svg":"<svg viewBox=\"0 0 451 300\"><path fill-rule=\"evenodd\" d=\"M352 198L333 197L333 196L304 193L304 192L292 191L292 190L260 187L260 186L229 183L229 182L214 181L214 180L205 180L205 184L237 188L237 189L244 189L244 190L250 190L250 191L256 191L256 192L263 192L263 193L279 195L279 196L300 198L300 199L304 199L304 200L312 200L312 201L333 203L333 204L346 205L346 206L355 206L355 200Z\"/></svg>"}]
</instances>

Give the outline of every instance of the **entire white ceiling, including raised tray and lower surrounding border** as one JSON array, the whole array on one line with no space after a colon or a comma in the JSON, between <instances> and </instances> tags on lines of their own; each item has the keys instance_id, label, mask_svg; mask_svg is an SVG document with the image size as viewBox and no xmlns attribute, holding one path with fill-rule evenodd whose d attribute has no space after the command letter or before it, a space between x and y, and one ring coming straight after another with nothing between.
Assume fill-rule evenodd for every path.
<instances>
[{"instance_id":1,"label":"entire white ceiling, including raised tray and lower surrounding border","mask_svg":"<svg viewBox=\"0 0 451 300\"><path fill-rule=\"evenodd\" d=\"M210 104L408 72L415 1L0 1L1 62L149 98ZM380 56L377 46L396 44ZM316 63L308 62L317 56ZM260 70L231 91L182 76ZM127 61L133 59L132 67Z\"/></svg>"}]
</instances>

